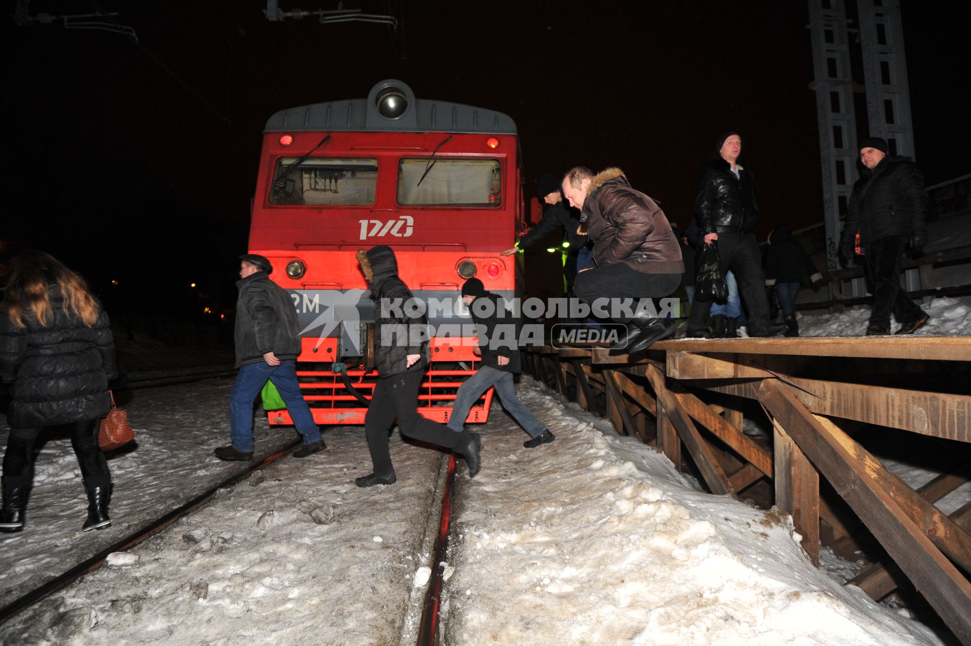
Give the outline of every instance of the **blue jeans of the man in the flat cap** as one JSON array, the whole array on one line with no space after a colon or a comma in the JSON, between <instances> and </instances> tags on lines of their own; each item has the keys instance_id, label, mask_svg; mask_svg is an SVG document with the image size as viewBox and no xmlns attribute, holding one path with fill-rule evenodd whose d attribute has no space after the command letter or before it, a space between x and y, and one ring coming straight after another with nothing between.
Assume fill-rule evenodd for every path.
<instances>
[{"instance_id":1,"label":"blue jeans of the man in the flat cap","mask_svg":"<svg viewBox=\"0 0 971 646\"><path fill-rule=\"evenodd\" d=\"M286 402L286 412L290 414L297 432L303 436L304 444L320 439L320 429L314 422L307 401L300 394L297 382L297 362L290 359L280 365L270 365L266 361L247 363L240 368L229 393L229 437L233 447L247 453L252 451L252 402L266 386L267 380L280 391Z\"/></svg>"}]
</instances>

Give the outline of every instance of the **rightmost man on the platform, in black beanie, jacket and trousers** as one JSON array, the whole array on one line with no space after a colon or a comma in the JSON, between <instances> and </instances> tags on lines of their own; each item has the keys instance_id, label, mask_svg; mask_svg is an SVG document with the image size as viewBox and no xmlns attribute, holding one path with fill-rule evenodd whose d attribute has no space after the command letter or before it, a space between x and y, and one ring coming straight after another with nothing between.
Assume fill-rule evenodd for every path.
<instances>
[{"instance_id":1,"label":"rightmost man on the platform, in black beanie, jacket and trousers","mask_svg":"<svg viewBox=\"0 0 971 646\"><path fill-rule=\"evenodd\" d=\"M913 334L930 318L900 289L904 253L909 249L913 257L920 257L927 244L930 200L921 170L909 158L888 151L887 141L880 137L860 142L864 170L854 184L840 236L840 259L851 263L858 246L873 283L867 335L889 334L890 312L900 324L896 334Z\"/></svg>"}]
</instances>

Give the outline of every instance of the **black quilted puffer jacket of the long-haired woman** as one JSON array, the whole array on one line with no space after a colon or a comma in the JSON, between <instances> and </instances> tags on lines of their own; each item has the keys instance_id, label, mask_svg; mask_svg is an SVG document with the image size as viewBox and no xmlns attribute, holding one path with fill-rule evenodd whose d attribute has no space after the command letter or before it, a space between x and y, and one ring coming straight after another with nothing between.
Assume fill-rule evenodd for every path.
<instances>
[{"instance_id":1,"label":"black quilted puffer jacket of the long-haired woman","mask_svg":"<svg viewBox=\"0 0 971 646\"><path fill-rule=\"evenodd\" d=\"M118 376L108 315L98 303L90 327L70 309L56 284L48 286L51 316L32 312L18 327L0 307L0 377L14 384L7 419L14 428L98 420L108 414L108 381Z\"/></svg>"}]
</instances>

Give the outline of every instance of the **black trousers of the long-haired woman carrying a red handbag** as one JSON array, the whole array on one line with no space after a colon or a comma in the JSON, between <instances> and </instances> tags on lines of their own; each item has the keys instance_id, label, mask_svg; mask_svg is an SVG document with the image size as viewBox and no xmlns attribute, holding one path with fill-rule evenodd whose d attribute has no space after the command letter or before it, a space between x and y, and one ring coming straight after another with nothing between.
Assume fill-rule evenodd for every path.
<instances>
[{"instance_id":1,"label":"black trousers of the long-haired woman carrying a red handbag","mask_svg":"<svg viewBox=\"0 0 971 646\"><path fill-rule=\"evenodd\" d=\"M98 429L101 420L82 420L68 425L71 430L71 446L81 465L81 474L89 483L107 487L110 482L108 462L98 446ZM11 428L7 438L7 453L3 457L3 476L8 485L17 487L30 484L34 442L41 428Z\"/></svg>"}]
</instances>

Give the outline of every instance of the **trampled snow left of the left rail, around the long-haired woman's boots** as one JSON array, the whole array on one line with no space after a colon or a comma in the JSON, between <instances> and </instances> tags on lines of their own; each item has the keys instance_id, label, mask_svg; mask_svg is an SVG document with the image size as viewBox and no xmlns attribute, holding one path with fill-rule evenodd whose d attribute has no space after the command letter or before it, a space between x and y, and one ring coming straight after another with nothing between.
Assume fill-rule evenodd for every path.
<instances>
[{"instance_id":1,"label":"trampled snow left of the left rail, around the long-haired woman's boots","mask_svg":"<svg viewBox=\"0 0 971 646\"><path fill-rule=\"evenodd\" d=\"M229 443L231 386L230 380L209 380L117 394L117 404L135 428L135 443L107 454L114 483L112 527L101 531L81 530L87 498L67 433L42 434L34 447L26 527L0 534L0 605L244 470L244 462L213 455L213 449ZM6 417L0 418L0 446L6 447L10 429ZM261 412L255 420L257 458L283 450L298 437L292 427L271 429Z\"/></svg>"}]
</instances>

